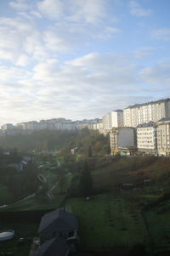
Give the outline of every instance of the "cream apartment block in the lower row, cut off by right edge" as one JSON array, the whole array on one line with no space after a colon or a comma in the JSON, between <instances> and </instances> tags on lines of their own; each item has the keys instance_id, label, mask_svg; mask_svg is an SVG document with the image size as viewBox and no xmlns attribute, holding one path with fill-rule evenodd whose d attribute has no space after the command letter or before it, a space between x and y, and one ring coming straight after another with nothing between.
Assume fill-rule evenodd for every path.
<instances>
[{"instance_id":1,"label":"cream apartment block in the lower row, cut off by right edge","mask_svg":"<svg viewBox=\"0 0 170 256\"><path fill-rule=\"evenodd\" d=\"M170 156L170 118L162 118L156 125L158 155Z\"/></svg>"}]
</instances>

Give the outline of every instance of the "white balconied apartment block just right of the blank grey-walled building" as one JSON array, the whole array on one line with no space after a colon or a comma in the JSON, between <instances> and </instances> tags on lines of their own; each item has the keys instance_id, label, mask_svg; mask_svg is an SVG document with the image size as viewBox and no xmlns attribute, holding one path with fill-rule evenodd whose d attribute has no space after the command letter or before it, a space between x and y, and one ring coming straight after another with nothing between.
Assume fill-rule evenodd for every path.
<instances>
[{"instance_id":1,"label":"white balconied apartment block just right of the blank grey-walled building","mask_svg":"<svg viewBox=\"0 0 170 256\"><path fill-rule=\"evenodd\" d=\"M137 127L137 147L138 151L146 154L156 154L156 123L149 122L139 124Z\"/></svg>"}]
</instances>

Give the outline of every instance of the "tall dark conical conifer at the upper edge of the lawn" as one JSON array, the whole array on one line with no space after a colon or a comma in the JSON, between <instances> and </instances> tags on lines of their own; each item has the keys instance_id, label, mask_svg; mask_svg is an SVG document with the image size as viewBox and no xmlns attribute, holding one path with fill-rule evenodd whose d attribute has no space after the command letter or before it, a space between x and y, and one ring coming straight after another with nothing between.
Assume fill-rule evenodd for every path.
<instances>
[{"instance_id":1,"label":"tall dark conical conifer at the upper edge of the lawn","mask_svg":"<svg viewBox=\"0 0 170 256\"><path fill-rule=\"evenodd\" d=\"M93 179L87 162L84 162L84 167L80 177L79 190L81 196L89 196L94 191Z\"/></svg>"}]
</instances>

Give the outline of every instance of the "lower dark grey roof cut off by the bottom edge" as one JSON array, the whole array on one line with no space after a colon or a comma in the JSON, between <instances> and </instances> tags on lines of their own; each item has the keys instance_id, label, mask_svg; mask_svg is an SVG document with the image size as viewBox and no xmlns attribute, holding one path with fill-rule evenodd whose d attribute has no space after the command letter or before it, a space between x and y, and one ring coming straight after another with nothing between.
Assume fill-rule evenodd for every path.
<instances>
[{"instance_id":1,"label":"lower dark grey roof cut off by the bottom edge","mask_svg":"<svg viewBox=\"0 0 170 256\"><path fill-rule=\"evenodd\" d=\"M38 256L65 256L69 250L68 244L64 239L53 238L44 242L37 250Z\"/></svg>"}]
</instances>

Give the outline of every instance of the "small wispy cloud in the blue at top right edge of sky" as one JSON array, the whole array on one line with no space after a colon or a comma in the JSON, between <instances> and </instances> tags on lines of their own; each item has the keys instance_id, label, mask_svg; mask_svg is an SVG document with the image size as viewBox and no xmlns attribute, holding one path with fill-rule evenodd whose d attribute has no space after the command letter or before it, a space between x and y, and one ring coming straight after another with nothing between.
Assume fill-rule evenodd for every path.
<instances>
[{"instance_id":1,"label":"small wispy cloud in the blue at top right edge of sky","mask_svg":"<svg viewBox=\"0 0 170 256\"><path fill-rule=\"evenodd\" d=\"M143 17L143 16L150 16L152 14L151 9L144 9L141 7L141 5L136 1L130 1L130 13L137 17Z\"/></svg>"}]
</instances>

